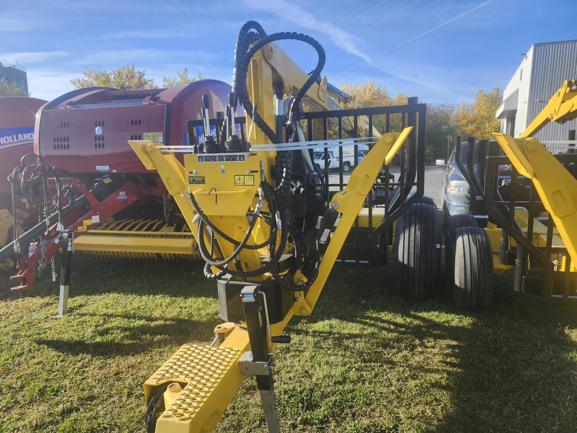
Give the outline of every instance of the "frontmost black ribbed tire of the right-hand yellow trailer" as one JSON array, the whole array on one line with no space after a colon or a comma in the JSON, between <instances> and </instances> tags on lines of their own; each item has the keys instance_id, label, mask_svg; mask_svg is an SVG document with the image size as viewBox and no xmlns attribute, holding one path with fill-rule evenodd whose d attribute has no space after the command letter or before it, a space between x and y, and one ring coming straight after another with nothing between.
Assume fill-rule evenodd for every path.
<instances>
[{"instance_id":1,"label":"frontmost black ribbed tire of the right-hand yellow trailer","mask_svg":"<svg viewBox=\"0 0 577 433\"><path fill-rule=\"evenodd\" d=\"M493 297L493 253L487 232L480 227L455 230L453 300L459 308L489 307Z\"/></svg>"}]
</instances>

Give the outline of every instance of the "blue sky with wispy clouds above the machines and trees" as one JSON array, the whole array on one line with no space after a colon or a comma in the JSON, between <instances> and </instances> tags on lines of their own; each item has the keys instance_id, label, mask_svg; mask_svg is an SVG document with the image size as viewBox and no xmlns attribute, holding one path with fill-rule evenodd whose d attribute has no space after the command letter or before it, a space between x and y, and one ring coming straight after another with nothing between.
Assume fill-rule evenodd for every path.
<instances>
[{"instance_id":1,"label":"blue sky with wispy clouds above the machines and trees","mask_svg":"<svg viewBox=\"0 0 577 433\"><path fill-rule=\"evenodd\" d=\"M43 99L72 89L84 66L134 63L157 85L186 66L230 83L238 29L256 20L267 33L319 40L329 83L374 79L391 94L459 103L478 89L504 88L531 44L577 39L575 0L492 0L407 42L486 1L0 0L0 61L20 62L32 96ZM312 48L280 46L304 70L316 65Z\"/></svg>"}]
</instances>

